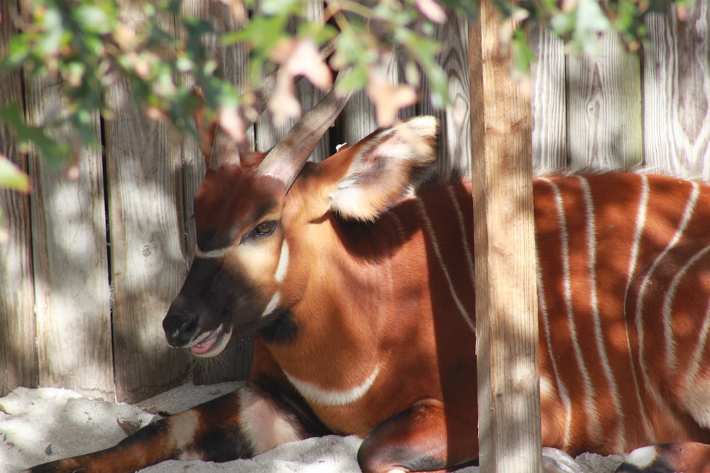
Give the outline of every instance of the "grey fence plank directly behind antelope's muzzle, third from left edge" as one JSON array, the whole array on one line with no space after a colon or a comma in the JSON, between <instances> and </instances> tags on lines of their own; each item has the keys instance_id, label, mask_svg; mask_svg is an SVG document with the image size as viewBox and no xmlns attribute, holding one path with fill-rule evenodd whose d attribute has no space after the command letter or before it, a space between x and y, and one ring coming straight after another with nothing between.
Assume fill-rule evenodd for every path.
<instances>
[{"instance_id":1,"label":"grey fence plank directly behind antelope's muzzle, third from left edge","mask_svg":"<svg viewBox=\"0 0 710 473\"><path fill-rule=\"evenodd\" d=\"M129 25L140 8L121 4ZM140 5L136 5L140 7ZM116 396L138 401L184 382L190 355L165 343L161 321L185 274L181 251L180 140L131 103L130 84L107 91L104 123L114 288Z\"/></svg>"}]
</instances>

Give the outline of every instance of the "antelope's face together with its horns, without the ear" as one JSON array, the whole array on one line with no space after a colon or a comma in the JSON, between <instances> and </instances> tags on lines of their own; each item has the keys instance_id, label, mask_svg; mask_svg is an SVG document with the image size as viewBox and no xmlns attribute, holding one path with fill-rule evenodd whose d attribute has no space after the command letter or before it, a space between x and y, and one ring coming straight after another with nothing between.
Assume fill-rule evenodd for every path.
<instances>
[{"instance_id":1,"label":"antelope's face together with its horns, without the ear","mask_svg":"<svg viewBox=\"0 0 710 473\"><path fill-rule=\"evenodd\" d=\"M195 195L195 260L163 320L171 346L214 356L233 333L245 335L275 317L280 296L273 287L289 252L285 196L348 99L332 89L268 154L246 151L219 127L196 120L207 172Z\"/></svg>"}]
</instances>

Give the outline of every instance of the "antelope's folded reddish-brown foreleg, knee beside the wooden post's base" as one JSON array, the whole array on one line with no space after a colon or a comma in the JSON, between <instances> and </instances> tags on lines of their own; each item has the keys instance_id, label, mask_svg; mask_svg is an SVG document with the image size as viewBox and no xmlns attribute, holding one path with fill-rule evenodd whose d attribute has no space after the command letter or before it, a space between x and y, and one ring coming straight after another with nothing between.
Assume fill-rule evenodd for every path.
<instances>
[{"instance_id":1,"label":"antelope's folded reddish-brown foreleg, knee beside the wooden post's base","mask_svg":"<svg viewBox=\"0 0 710 473\"><path fill-rule=\"evenodd\" d=\"M477 457L476 425L447 420L441 406L418 405L381 423L364 440L358 462L364 473L432 472Z\"/></svg>"}]
</instances>

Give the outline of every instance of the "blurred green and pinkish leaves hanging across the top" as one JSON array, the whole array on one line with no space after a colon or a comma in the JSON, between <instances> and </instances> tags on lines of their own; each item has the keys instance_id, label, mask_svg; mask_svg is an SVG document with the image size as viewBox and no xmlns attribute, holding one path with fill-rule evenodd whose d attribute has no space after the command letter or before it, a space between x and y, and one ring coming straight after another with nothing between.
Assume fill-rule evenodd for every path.
<instances>
[{"instance_id":1,"label":"blurred green and pinkish leaves hanging across the top","mask_svg":"<svg viewBox=\"0 0 710 473\"><path fill-rule=\"evenodd\" d=\"M678 11L692 0L674 2ZM395 119L398 108L417 100L422 74L432 87L435 106L447 103L447 77L435 57L441 45L435 25L452 11L475 17L470 0L327 0L324 20L307 18L307 0L222 0L237 28L217 33L212 23L185 16L180 0L141 3L120 0L32 0L27 11L0 18L13 21L18 33L0 48L0 73L21 70L26 78L56 77L63 110L43 123L26 123L18 104L0 105L5 123L25 148L33 145L53 165L75 160L77 150L55 139L56 130L74 130L77 143L97 145L94 120L111 119L106 91L118 81L131 86L132 99L149 117L168 120L193 132L189 118L200 101L192 84L202 90L207 113L219 114L225 128L239 128L241 108L250 116L249 94L263 71L278 66L277 89L271 103L275 120L300 114L293 94L295 77L303 75L321 89L331 87L330 69L348 69L339 87L366 89L380 123ZM616 28L629 47L645 36L643 16L667 11L670 0L493 0L503 16L518 25L508 40L525 69L533 55L524 33L530 21L540 21L567 41L571 50L593 50L599 31ZM140 28L131 26L127 10L142 9ZM289 26L293 26L289 28ZM246 94L239 95L219 76L217 62L204 47L207 38L222 45L245 45L250 52ZM320 57L326 43L334 46L329 59ZM385 70L395 52L404 58L404 83L389 84ZM275 107L273 104L280 106ZM225 111L232 113L225 113ZM253 116L253 111L251 111ZM231 122L231 123L230 123ZM28 190L18 170L0 155L0 187Z\"/></svg>"}]
</instances>

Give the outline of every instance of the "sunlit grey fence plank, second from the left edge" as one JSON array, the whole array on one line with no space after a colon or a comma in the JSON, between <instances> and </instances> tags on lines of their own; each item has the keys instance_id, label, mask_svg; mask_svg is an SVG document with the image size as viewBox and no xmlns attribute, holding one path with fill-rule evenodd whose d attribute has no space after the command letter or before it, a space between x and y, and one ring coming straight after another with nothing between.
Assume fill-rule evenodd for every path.
<instances>
[{"instance_id":1,"label":"sunlit grey fence plank, second from the left edge","mask_svg":"<svg viewBox=\"0 0 710 473\"><path fill-rule=\"evenodd\" d=\"M56 77L26 83L29 123L62 113L60 87ZM76 146L78 178L31 159L40 384L114 399L102 156L68 132L54 138Z\"/></svg>"}]
</instances>

